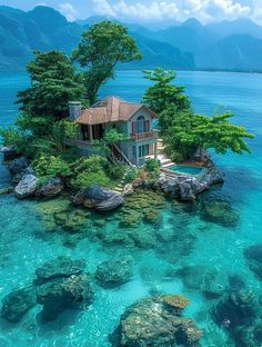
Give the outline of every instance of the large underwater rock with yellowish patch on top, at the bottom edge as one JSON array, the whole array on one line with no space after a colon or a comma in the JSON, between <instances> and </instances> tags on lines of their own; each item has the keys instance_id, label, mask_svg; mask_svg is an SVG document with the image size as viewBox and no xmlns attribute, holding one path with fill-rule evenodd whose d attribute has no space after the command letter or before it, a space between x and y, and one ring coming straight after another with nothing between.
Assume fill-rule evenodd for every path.
<instances>
[{"instance_id":1,"label":"large underwater rock with yellowish patch on top, at the bottom edge","mask_svg":"<svg viewBox=\"0 0 262 347\"><path fill-rule=\"evenodd\" d=\"M199 346L202 331L192 319L177 316L164 303L165 296L142 299L127 308L119 326L109 336L111 346Z\"/></svg>"}]
</instances>

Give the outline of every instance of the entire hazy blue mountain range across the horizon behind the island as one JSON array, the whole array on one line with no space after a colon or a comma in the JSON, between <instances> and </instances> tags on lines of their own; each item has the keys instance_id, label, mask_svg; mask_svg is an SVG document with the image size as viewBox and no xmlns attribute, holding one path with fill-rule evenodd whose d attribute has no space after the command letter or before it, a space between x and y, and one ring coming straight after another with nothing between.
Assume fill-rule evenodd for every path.
<instances>
[{"instance_id":1,"label":"entire hazy blue mountain range across the horizon behind the island","mask_svg":"<svg viewBox=\"0 0 262 347\"><path fill-rule=\"evenodd\" d=\"M33 50L60 49L70 54L81 33L103 19L69 22L49 7L39 6L28 12L0 7L0 71L23 70ZM262 27L249 19L203 26L192 18L161 30L124 24L143 59L119 68L262 71Z\"/></svg>"}]
</instances>

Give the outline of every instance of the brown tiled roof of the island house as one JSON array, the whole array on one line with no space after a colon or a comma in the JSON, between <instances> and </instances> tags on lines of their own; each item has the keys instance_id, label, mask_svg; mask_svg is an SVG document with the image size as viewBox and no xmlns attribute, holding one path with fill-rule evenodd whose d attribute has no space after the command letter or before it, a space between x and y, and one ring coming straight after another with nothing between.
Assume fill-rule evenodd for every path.
<instances>
[{"instance_id":1,"label":"brown tiled roof of the island house","mask_svg":"<svg viewBox=\"0 0 262 347\"><path fill-rule=\"evenodd\" d=\"M152 118L157 115L142 103L132 103L117 97L108 97L88 109L82 110L77 118L80 125L100 125L115 121L127 121L140 109L145 109Z\"/></svg>"}]
</instances>

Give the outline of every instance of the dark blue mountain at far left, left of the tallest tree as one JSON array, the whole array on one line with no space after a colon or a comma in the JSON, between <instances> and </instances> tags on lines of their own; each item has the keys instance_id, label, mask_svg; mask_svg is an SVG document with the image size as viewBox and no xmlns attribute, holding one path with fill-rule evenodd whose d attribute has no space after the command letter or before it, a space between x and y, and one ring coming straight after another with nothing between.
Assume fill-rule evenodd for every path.
<instances>
[{"instance_id":1,"label":"dark blue mountain at far left, left of the tallest tree","mask_svg":"<svg viewBox=\"0 0 262 347\"><path fill-rule=\"evenodd\" d=\"M82 27L69 23L48 7L23 12L0 7L0 69L23 69L33 50L61 49L70 52Z\"/></svg>"}]
</instances>

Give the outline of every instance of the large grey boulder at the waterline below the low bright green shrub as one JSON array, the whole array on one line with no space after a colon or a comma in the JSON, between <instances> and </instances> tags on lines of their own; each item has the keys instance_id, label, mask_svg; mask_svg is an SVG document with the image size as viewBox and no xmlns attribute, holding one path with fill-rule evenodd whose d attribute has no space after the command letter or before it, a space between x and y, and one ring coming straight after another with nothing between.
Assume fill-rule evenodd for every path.
<instances>
[{"instance_id":1,"label":"large grey boulder at the waterline below the low bright green shrub","mask_svg":"<svg viewBox=\"0 0 262 347\"><path fill-rule=\"evenodd\" d=\"M75 206L83 205L100 211L115 209L124 202L122 195L95 185L72 196L71 201Z\"/></svg>"}]
</instances>

